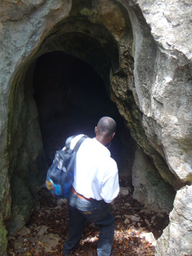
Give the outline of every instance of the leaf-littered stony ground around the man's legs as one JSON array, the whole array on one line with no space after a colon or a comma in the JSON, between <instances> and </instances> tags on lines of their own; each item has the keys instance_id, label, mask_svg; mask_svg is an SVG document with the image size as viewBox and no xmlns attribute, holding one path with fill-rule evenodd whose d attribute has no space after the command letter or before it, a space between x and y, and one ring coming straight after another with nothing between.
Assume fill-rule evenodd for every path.
<instances>
[{"instance_id":1,"label":"leaf-littered stony ground around the man's legs","mask_svg":"<svg viewBox=\"0 0 192 256\"><path fill-rule=\"evenodd\" d=\"M120 181L119 196L111 204L116 219L113 255L153 256L156 239L168 225L168 215L148 211L133 199L133 187ZM60 256L68 235L68 204L56 200L46 188L39 191L39 210L20 232L9 236L8 256ZM76 256L97 255L99 229L88 223Z\"/></svg>"}]
</instances>

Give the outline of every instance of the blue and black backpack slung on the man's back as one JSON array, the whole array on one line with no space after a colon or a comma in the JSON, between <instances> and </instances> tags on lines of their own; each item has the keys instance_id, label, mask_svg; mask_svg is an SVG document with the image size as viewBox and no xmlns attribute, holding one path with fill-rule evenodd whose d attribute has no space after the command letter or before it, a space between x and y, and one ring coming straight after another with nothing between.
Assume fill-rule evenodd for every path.
<instances>
[{"instance_id":1,"label":"blue and black backpack slung on the man's back","mask_svg":"<svg viewBox=\"0 0 192 256\"><path fill-rule=\"evenodd\" d=\"M73 137L75 136L66 139L65 148L56 151L53 163L47 171L46 188L57 198L68 198L73 183L76 152L88 136L82 136L71 149L70 143Z\"/></svg>"}]
</instances>

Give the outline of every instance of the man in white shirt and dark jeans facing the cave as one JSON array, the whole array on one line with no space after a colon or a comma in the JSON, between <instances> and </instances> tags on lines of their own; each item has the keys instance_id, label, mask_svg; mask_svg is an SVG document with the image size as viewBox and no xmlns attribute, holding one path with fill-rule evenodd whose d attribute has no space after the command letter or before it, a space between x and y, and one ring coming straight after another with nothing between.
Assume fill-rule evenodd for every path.
<instances>
[{"instance_id":1,"label":"man in white shirt and dark jeans facing the cave","mask_svg":"<svg viewBox=\"0 0 192 256\"><path fill-rule=\"evenodd\" d=\"M98 256L112 256L114 217L110 203L119 194L117 164L106 148L115 135L116 122L102 117L95 127L95 137L82 142L76 153L76 165L72 191L68 198L69 231L63 245L64 255L78 248L87 220L100 228L97 245ZM74 137L73 148L83 135Z\"/></svg>"}]
</instances>

